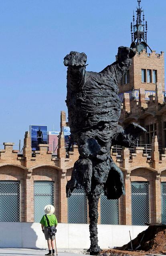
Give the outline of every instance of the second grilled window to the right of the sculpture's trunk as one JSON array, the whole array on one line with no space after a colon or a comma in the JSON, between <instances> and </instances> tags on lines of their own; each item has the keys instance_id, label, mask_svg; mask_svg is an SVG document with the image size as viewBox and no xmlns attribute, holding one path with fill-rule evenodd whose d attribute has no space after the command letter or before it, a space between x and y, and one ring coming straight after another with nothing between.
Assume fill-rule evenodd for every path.
<instances>
[{"instance_id":1,"label":"second grilled window to the right of the sculpture's trunk","mask_svg":"<svg viewBox=\"0 0 166 256\"><path fill-rule=\"evenodd\" d=\"M132 225L149 221L149 183L132 182Z\"/></svg>"}]
</instances>

